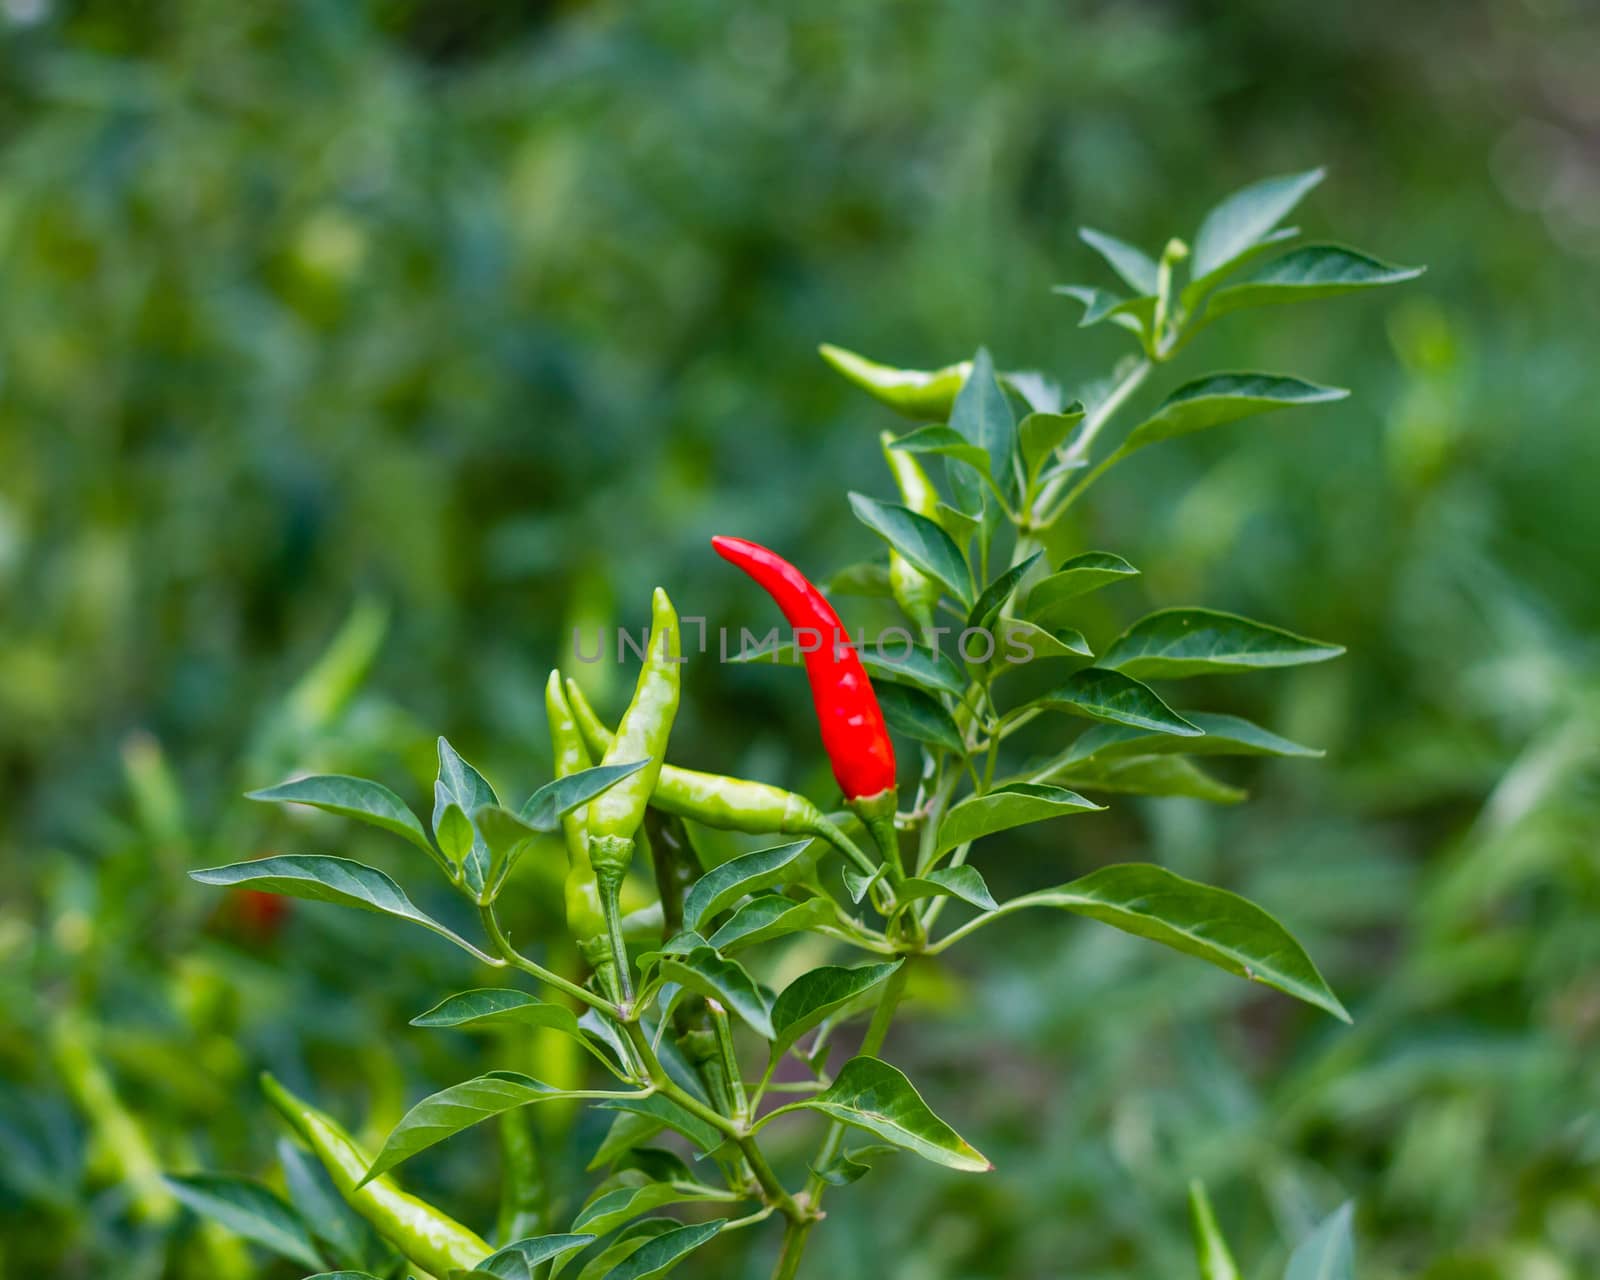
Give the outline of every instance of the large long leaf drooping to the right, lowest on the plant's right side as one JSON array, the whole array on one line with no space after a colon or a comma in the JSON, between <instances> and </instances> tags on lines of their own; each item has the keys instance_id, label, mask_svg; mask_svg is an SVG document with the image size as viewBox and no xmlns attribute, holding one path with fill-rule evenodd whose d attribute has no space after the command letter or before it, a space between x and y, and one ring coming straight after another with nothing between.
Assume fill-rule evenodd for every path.
<instances>
[{"instance_id":1,"label":"large long leaf drooping to the right, lowest on the plant's right side","mask_svg":"<svg viewBox=\"0 0 1600 1280\"><path fill-rule=\"evenodd\" d=\"M1186 880L1165 867L1147 862L1101 867L1069 885L1014 898L966 928L1024 907L1061 907L1086 915L1282 990L1342 1022L1350 1021L1283 925L1237 893Z\"/></svg>"}]
</instances>

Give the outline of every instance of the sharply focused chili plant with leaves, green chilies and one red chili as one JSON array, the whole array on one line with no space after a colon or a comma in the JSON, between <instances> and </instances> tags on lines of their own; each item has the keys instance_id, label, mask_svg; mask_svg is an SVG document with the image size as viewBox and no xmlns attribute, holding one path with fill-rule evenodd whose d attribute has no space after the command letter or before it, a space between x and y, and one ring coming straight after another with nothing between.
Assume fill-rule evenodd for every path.
<instances>
[{"instance_id":1,"label":"sharply focused chili plant with leaves, green chilies and one red chili","mask_svg":"<svg viewBox=\"0 0 1600 1280\"><path fill-rule=\"evenodd\" d=\"M1338 645L1213 610L1166 608L1093 646L1072 626L1082 598L1138 570L1104 550L1048 563L1045 539L1101 477L1150 445L1346 395L1288 374L1213 373L1179 386L1102 448L1141 384L1222 317L1418 274L1336 245L1288 248L1296 232L1280 222L1320 178L1246 187L1205 218L1192 246L1174 238L1158 258L1085 230L1128 293L1061 291L1083 304L1085 325L1118 325L1138 344L1086 402L1066 403L1037 374L998 374L982 350L962 365L907 371L822 349L845 376L918 422L883 437L902 501L850 496L856 517L886 544L883 562L850 571L851 586L893 597L909 629L896 629L893 643L885 632L854 645L794 565L738 538L714 546L795 629L792 643L750 656L805 664L845 800L838 813L672 758L685 653L664 590L653 600L634 699L614 730L576 683L552 672L546 704L557 778L520 806L504 805L443 739L429 827L392 790L357 778L299 778L254 792L410 842L470 902L483 939L469 941L382 872L341 858L266 858L195 872L198 880L397 917L488 971L533 979L539 994L464 990L416 1026L547 1027L578 1042L610 1082L574 1091L490 1072L419 1101L368 1155L267 1080L270 1101L339 1195L299 1195L291 1210L266 1187L216 1178L173 1179L179 1195L307 1266L421 1269L440 1280L642 1280L722 1232L773 1222L782 1229L773 1275L790 1280L830 1189L875 1162L909 1152L954 1173L992 1168L883 1051L912 970L997 920L1030 907L1083 915L1347 1021L1285 926L1222 888L1130 862L998 902L976 864L990 837L1104 808L1091 797L1230 798L1195 757L1317 754L1232 715L1176 710L1149 682L1322 662L1342 651ZM1269 258L1277 250L1286 251ZM922 459L942 461L942 490ZM939 626L946 616L950 624ZM1022 659L1051 674L1048 688L1016 691L1027 683L1016 675ZM1056 754L1022 758L1016 750L1024 726L1066 728L1074 718L1088 725L1058 739ZM896 763L890 730L914 746L909 770ZM696 827L790 838L702 866ZM566 922L586 973L557 973L526 955L498 914L512 867L528 850L547 848L539 837L557 830L568 858ZM648 858L638 856L646 848ZM643 886L650 906L624 914L624 883ZM835 963L774 994L763 979L798 934L821 939ZM854 1051L843 1051L858 1018L866 1030ZM571 1221L544 1222L531 1208L502 1214L491 1245L394 1184L394 1170L418 1152L555 1099L589 1101L613 1115L590 1165L608 1174ZM816 1154L802 1170L779 1168L770 1133L806 1122L821 1123ZM667 1133L686 1144L693 1163L658 1146ZM293 1146L286 1158L307 1162ZM523 1163L533 1158L525 1152ZM515 1163L509 1178L518 1176ZM293 1174L291 1186L306 1174ZM682 1221L659 1213L669 1206L680 1206ZM349 1211L357 1218L344 1221ZM382 1246L357 1230L360 1219Z\"/></svg>"}]
</instances>

